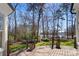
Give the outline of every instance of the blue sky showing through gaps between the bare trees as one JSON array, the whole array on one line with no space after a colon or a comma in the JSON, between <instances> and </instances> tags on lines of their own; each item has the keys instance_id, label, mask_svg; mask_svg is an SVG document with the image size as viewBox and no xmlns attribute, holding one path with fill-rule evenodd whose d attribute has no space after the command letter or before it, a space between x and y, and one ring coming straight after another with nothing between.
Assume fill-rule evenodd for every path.
<instances>
[{"instance_id":1,"label":"blue sky showing through gaps between the bare trees","mask_svg":"<svg viewBox=\"0 0 79 59\"><path fill-rule=\"evenodd\" d=\"M54 10L56 10L56 9L58 9L59 8L59 5L60 5L60 3L53 3L53 4L51 4L51 3L47 3L47 4L45 4L45 7L47 8L46 10L45 10L45 15L46 16L48 16L48 17L50 17L50 16L52 16L52 13L51 13L51 11L49 10L49 8L52 8L52 9L54 9ZM49 8L48 8L49 7ZM18 24L20 24L21 22L19 21L19 19L20 19L20 17L19 17L19 14L23 14L23 13L25 13L26 12L26 10L27 10L27 8L28 8L28 6L27 6L27 4L25 4L25 3L21 3L18 7L17 7L17 9L16 9L16 11L17 11L17 21L18 21ZM68 18L69 18L69 20L71 19L71 17L70 17L70 13L68 13L69 15L68 15ZM30 15L30 16L32 16L31 14L28 14L28 11L27 11L27 15ZM37 15L37 14L36 14ZM66 19L66 16L64 15L63 16L65 19ZM50 18L49 18L50 19ZM62 31L64 31L65 29L66 29L66 20L63 20L63 21L60 21L60 22L62 22L62 24L61 24L61 26L62 26ZM69 21L69 23L70 23L70 21ZM40 22L40 24L41 24L41 22ZM52 21L50 21L49 23L49 28L51 29L51 26L52 26ZM41 25L40 25L41 26ZM41 28L40 29L42 29L42 26L41 26Z\"/></svg>"}]
</instances>

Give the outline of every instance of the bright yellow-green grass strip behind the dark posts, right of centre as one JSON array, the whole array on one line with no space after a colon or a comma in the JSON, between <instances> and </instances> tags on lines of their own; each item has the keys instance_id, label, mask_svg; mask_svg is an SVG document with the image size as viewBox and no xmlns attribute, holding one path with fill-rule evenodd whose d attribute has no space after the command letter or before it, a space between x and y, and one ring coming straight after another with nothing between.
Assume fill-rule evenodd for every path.
<instances>
[{"instance_id":1,"label":"bright yellow-green grass strip behind the dark posts, right of centre","mask_svg":"<svg viewBox=\"0 0 79 59\"><path fill-rule=\"evenodd\" d=\"M55 41L55 43L56 43L56 41ZM48 42L42 41L42 42L38 42L36 44L36 46L47 46L47 45L51 45L51 44L52 44L51 41L48 41ZM73 40L61 40L60 45L61 46L74 46L74 41Z\"/></svg>"}]
</instances>

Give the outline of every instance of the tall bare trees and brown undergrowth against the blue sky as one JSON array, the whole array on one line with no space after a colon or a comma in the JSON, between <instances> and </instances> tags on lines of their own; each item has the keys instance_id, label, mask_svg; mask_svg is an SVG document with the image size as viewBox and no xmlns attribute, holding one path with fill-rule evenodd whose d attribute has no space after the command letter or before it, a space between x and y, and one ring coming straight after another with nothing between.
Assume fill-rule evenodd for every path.
<instances>
[{"instance_id":1,"label":"tall bare trees and brown undergrowth against the blue sky","mask_svg":"<svg viewBox=\"0 0 79 59\"><path fill-rule=\"evenodd\" d=\"M12 5L15 11L9 16L9 38L14 42L27 39L28 36L39 41L40 32L42 38L49 38L49 34L52 33L52 48L55 39L56 47L60 48L59 32L63 31L64 23L66 23L64 32L67 38L69 34L72 37L75 35L75 19L70 12L71 4L13 3ZM71 20L70 26L69 20Z\"/></svg>"}]
</instances>

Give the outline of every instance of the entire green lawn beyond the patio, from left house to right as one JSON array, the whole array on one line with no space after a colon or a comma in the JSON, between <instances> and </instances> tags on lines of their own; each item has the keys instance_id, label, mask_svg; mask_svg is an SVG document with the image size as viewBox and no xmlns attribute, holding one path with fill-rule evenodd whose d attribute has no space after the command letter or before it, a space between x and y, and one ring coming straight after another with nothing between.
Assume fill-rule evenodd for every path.
<instances>
[{"instance_id":1,"label":"entire green lawn beyond the patio, from left house to right","mask_svg":"<svg viewBox=\"0 0 79 59\"><path fill-rule=\"evenodd\" d=\"M55 43L56 43L56 41L55 41ZM48 45L51 45L51 44L52 44L52 41L42 41L42 42L36 43L36 46L48 46ZM74 41L73 40L61 40L60 44L61 44L61 46L71 46L71 47L73 47ZM26 44L21 44L21 43L15 43L15 44L9 45L10 53L24 49L26 47L27 47Z\"/></svg>"}]
</instances>

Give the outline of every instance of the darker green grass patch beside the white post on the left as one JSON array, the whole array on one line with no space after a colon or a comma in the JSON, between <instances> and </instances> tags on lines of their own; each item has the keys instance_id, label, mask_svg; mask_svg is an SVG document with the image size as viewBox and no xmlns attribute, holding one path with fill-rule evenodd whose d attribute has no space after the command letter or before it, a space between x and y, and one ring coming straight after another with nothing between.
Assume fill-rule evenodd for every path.
<instances>
[{"instance_id":1,"label":"darker green grass patch beside the white post on the left","mask_svg":"<svg viewBox=\"0 0 79 59\"><path fill-rule=\"evenodd\" d=\"M9 45L10 53L26 48L26 44L12 44Z\"/></svg>"}]
</instances>

